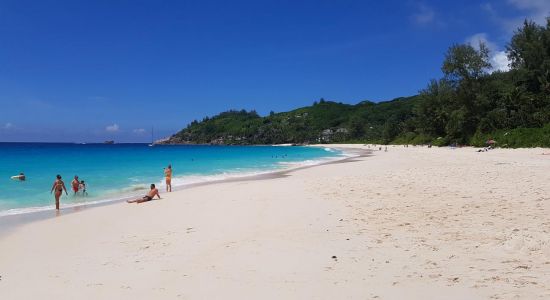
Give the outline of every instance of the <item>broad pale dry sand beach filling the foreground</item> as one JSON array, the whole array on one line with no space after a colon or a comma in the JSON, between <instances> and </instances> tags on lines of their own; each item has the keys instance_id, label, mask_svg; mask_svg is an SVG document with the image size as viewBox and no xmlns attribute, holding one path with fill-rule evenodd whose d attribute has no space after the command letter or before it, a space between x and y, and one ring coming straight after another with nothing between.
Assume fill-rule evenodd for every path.
<instances>
[{"instance_id":1,"label":"broad pale dry sand beach filling the foreground","mask_svg":"<svg viewBox=\"0 0 550 300\"><path fill-rule=\"evenodd\" d=\"M0 238L0 299L550 299L548 149L389 147Z\"/></svg>"}]
</instances>

